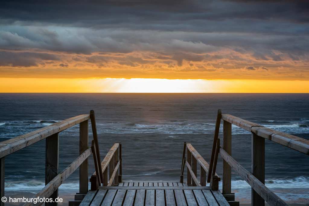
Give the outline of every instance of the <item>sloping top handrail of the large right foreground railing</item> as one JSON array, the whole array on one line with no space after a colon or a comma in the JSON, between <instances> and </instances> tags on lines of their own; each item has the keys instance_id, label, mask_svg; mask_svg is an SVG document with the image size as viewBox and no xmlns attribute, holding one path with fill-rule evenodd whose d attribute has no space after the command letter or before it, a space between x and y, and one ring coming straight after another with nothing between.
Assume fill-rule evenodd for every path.
<instances>
[{"instance_id":1,"label":"sloping top handrail of the large right foreground railing","mask_svg":"<svg viewBox=\"0 0 309 206\"><path fill-rule=\"evenodd\" d=\"M309 140L294 135L286 134L284 132L280 132L277 130L273 130L264 127L260 124L243 120L239 117L235 117L229 114L223 114L222 119L240 128L243 128L249 132L253 132L259 137L263 137L270 141L276 142L280 145L289 147L298 152L309 155Z\"/></svg>"}]
</instances>

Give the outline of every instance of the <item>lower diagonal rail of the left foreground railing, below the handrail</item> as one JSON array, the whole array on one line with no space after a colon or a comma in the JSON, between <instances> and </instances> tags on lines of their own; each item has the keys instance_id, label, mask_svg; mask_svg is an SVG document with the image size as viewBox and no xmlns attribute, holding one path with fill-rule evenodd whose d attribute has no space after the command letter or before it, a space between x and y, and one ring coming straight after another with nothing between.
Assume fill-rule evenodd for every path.
<instances>
[{"instance_id":1,"label":"lower diagonal rail of the left foreground railing, below the handrail","mask_svg":"<svg viewBox=\"0 0 309 206\"><path fill-rule=\"evenodd\" d=\"M91 148L88 148L83 154L79 155L66 169L52 179L43 189L41 189L33 198L37 197L49 197L52 195L58 187L91 155ZM26 203L24 206L28 205L41 205L43 203Z\"/></svg>"}]
</instances>

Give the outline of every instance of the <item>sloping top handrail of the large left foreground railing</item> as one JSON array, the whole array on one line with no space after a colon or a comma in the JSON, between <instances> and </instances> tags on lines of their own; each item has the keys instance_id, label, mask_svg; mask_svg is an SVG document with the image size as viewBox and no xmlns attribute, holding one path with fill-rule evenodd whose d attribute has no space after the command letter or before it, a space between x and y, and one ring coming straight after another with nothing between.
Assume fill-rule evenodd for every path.
<instances>
[{"instance_id":1,"label":"sloping top handrail of the large left foreground railing","mask_svg":"<svg viewBox=\"0 0 309 206\"><path fill-rule=\"evenodd\" d=\"M70 119L66 119L54 124L51 124L47 127L43 127L41 129L35 130L33 132L29 132L27 134L2 141L0 144L0 158L5 157L11 153L14 153L20 149L28 147L40 140L45 139L53 134L61 132L69 127L74 126L75 124L79 124L85 120L89 119L89 115L79 115L72 117Z\"/></svg>"}]
</instances>

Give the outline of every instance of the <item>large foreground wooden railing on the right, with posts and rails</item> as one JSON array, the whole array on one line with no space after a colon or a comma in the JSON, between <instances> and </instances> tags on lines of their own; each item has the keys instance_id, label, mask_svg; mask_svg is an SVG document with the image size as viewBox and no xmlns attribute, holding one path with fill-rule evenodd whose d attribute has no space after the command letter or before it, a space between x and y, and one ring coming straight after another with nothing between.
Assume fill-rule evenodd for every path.
<instances>
[{"instance_id":1,"label":"large foreground wooden railing on the right, with posts and rails","mask_svg":"<svg viewBox=\"0 0 309 206\"><path fill-rule=\"evenodd\" d=\"M216 161L216 153L220 139L218 139L220 121L223 120L223 148L220 146L219 153L223 158L222 193L227 197L234 196L231 193L231 169L235 170L251 187L252 206L264 206L265 201L269 205L288 205L275 193L265 186L265 139L284 145L298 152L309 155L309 140L290 134L266 128L260 124L249 122L238 117L221 114L218 110L215 127L214 143L211 155L211 163ZM252 133L252 168L251 172L243 168L231 156L232 150L232 124ZM213 164L210 164L210 170ZM210 174L211 175L211 174ZM210 181L208 176L208 182ZM233 197L234 198L234 197Z\"/></svg>"}]
</instances>

